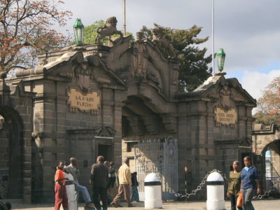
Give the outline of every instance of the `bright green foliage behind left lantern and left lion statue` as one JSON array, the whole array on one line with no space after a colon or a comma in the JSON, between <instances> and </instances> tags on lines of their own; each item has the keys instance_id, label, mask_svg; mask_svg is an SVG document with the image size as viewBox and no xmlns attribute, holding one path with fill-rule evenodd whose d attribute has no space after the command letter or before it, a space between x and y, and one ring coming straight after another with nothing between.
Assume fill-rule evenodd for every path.
<instances>
[{"instance_id":1,"label":"bright green foliage behind left lantern and left lion statue","mask_svg":"<svg viewBox=\"0 0 280 210\"><path fill-rule=\"evenodd\" d=\"M97 38L97 29L99 27L104 27L105 22L104 20L98 20L94 22L92 25L86 26L85 27L85 34L84 34L84 43L87 44L95 44L95 38ZM130 32L126 32L126 36L132 35ZM119 34L113 34L112 37L119 37ZM133 37L132 37L133 39ZM109 37L106 36L105 38L102 39L101 43L104 44L109 41Z\"/></svg>"}]
</instances>

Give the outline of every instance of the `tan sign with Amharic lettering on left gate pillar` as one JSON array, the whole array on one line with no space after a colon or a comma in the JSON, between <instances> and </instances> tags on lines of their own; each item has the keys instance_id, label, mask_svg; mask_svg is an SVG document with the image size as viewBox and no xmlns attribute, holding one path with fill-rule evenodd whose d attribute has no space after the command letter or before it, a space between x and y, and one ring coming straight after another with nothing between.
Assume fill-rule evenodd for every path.
<instances>
[{"instance_id":1,"label":"tan sign with Amharic lettering on left gate pillar","mask_svg":"<svg viewBox=\"0 0 280 210\"><path fill-rule=\"evenodd\" d=\"M76 109L80 111L91 111L96 113L100 106L100 97L98 92L87 92L83 94L79 90L70 89L68 92L68 104L74 112Z\"/></svg>"}]
</instances>

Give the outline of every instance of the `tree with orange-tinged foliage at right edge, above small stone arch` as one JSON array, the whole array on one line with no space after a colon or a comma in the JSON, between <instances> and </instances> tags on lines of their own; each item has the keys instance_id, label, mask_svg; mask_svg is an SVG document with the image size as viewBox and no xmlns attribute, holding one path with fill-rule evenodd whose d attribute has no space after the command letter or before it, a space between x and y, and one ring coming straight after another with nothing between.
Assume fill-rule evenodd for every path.
<instances>
[{"instance_id":1,"label":"tree with orange-tinged foliage at right edge, above small stone arch","mask_svg":"<svg viewBox=\"0 0 280 210\"><path fill-rule=\"evenodd\" d=\"M262 97L257 102L257 112L253 117L255 123L280 125L280 76L274 78L262 91Z\"/></svg>"}]
</instances>

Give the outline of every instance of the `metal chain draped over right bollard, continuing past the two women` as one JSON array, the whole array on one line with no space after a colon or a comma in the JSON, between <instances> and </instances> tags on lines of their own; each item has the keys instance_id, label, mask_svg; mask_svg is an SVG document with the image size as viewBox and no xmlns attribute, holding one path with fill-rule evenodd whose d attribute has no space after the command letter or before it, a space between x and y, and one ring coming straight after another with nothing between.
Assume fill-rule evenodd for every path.
<instances>
[{"instance_id":1,"label":"metal chain draped over right bollard, continuing past the two women","mask_svg":"<svg viewBox=\"0 0 280 210\"><path fill-rule=\"evenodd\" d=\"M218 169L214 169L214 170L211 171L211 172L207 172L207 174L206 174L206 175L204 176L204 178L202 179L202 182L197 186L197 188L196 188L195 190L192 190L190 193L185 193L185 195L183 195L183 194L181 194L181 193L176 193L174 190L169 190L169 193L174 194L176 197L180 197L180 198L186 197L186 198L189 198L191 195L195 195L198 191L200 191L200 190L202 189L202 187L205 185L205 183L206 183L206 181L207 181L207 177L209 176L209 174L211 174L211 173L213 173L213 172L218 172L218 173L221 174L221 171L219 171ZM228 181L227 176L225 176L225 174L221 174L221 175L223 176L223 179L224 179L225 181ZM256 196L254 196L254 197L253 197L253 200L261 200L263 197L267 197L267 196L269 195L269 193L271 193L272 190L273 190L274 188L276 188L276 186L277 186L277 183L276 183L276 182L280 183L280 178L279 178L279 179L276 179L276 180L274 180L274 181L272 181L272 182L273 182L273 186L270 188L269 191L265 191L265 193L262 194L262 195L256 195Z\"/></svg>"}]
</instances>

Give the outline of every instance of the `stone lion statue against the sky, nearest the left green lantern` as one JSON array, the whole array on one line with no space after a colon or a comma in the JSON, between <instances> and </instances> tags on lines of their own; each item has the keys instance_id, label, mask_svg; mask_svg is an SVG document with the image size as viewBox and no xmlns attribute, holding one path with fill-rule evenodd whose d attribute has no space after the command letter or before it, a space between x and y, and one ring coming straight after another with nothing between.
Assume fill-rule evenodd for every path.
<instances>
[{"instance_id":1,"label":"stone lion statue against the sky, nearest the left green lantern","mask_svg":"<svg viewBox=\"0 0 280 210\"><path fill-rule=\"evenodd\" d=\"M113 34L120 34L120 37L123 38L123 33L116 28L117 22L118 20L116 17L111 17L106 20L104 27L97 28L98 36L95 38L95 43L99 44L105 36L109 36L109 41L111 41L111 36Z\"/></svg>"}]
</instances>

